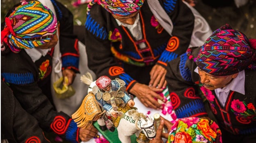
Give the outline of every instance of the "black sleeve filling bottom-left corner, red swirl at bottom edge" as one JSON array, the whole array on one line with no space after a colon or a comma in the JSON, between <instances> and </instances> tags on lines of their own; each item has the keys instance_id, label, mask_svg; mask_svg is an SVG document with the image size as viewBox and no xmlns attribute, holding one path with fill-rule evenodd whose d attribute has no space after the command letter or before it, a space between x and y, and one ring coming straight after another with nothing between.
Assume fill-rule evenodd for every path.
<instances>
[{"instance_id":1,"label":"black sleeve filling bottom-left corner, red swirl at bottom edge","mask_svg":"<svg viewBox=\"0 0 256 143\"><path fill-rule=\"evenodd\" d=\"M14 97L11 89L1 80L1 131L2 139L18 143L38 141L50 143L37 120L28 114Z\"/></svg>"}]
</instances>

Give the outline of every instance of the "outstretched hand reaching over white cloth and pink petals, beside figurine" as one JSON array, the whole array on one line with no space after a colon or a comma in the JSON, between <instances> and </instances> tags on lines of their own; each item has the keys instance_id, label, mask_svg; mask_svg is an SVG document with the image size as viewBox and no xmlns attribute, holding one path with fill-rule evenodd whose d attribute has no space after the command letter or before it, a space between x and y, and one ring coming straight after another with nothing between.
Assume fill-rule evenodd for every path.
<instances>
[{"instance_id":1,"label":"outstretched hand reaching over white cloth and pink petals, beside figurine","mask_svg":"<svg viewBox=\"0 0 256 143\"><path fill-rule=\"evenodd\" d=\"M155 87L149 87L144 84L136 83L131 89L130 93L137 96L140 102L144 104L146 107L150 107L153 109L161 109L162 105L158 103L155 98L160 99L164 102L164 98L162 98L156 92L162 92L162 89L157 89Z\"/></svg>"}]
</instances>

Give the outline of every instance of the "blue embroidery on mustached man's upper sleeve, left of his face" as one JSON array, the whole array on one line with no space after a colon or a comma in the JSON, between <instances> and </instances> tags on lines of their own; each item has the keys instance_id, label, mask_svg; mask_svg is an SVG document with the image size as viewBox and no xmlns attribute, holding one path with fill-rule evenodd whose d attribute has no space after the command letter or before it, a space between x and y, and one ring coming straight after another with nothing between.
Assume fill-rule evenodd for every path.
<instances>
[{"instance_id":1,"label":"blue embroidery on mustached man's upper sleeve, left of his face","mask_svg":"<svg viewBox=\"0 0 256 143\"><path fill-rule=\"evenodd\" d=\"M185 66L187 60L187 53L181 55L181 63L179 64L179 68L181 71L181 76L186 81L191 81L191 71Z\"/></svg>"}]
</instances>

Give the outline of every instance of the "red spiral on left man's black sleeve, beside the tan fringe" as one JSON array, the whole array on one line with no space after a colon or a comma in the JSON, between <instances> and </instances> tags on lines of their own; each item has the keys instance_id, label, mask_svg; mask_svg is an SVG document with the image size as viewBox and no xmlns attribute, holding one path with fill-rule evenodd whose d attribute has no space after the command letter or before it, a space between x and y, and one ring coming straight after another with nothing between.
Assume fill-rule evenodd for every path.
<instances>
[{"instance_id":1,"label":"red spiral on left man's black sleeve, beside the tan fringe","mask_svg":"<svg viewBox=\"0 0 256 143\"><path fill-rule=\"evenodd\" d=\"M63 116L56 116L51 124L52 130L57 134L65 133L66 119Z\"/></svg>"}]
</instances>

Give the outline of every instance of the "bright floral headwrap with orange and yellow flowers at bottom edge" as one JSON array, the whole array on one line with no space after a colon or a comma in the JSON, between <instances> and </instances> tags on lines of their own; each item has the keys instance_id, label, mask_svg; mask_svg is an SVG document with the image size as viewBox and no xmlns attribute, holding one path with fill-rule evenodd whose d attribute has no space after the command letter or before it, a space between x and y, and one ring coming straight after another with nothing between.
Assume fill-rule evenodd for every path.
<instances>
[{"instance_id":1,"label":"bright floral headwrap with orange and yellow flowers at bottom edge","mask_svg":"<svg viewBox=\"0 0 256 143\"><path fill-rule=\"evenodd\" d=\"M171 127L167 143L222 143L219 126L212 120L180 118Z\"/></svg>"}]
</instances>

